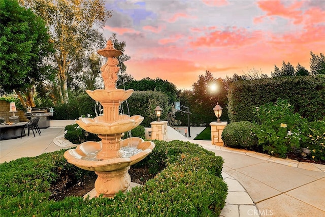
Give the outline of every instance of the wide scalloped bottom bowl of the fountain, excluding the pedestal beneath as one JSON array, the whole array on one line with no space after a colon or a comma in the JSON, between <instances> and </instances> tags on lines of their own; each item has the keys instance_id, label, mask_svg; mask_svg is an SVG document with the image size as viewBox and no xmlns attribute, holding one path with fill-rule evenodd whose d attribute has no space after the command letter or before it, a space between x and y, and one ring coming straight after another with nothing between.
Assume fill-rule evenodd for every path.
<instances>
[{"instance_id":1,"label":"wide scalloped bottom bowl of the fountain, excluding the pedestal beneath","mask_svg":"<svg viewBox=\"0 0 325 217\"><path fill-rule=\"evenodd\" d=\"M127 158L113 158L102 161L88 161L81 158L87 156L87 154L101 150L100 142L84 142L77 146L76 149L70 149L64 152L64 158L68 160L69 163L89 171L114 171L119 170L128 166L132 166L139 161L143 160L145 157L151 153L152 149L155 147L154 143L151 141L144 141L141 138L133 137L121 141L121 147L131 146L141 149L142 151L134 156Z\"/></svg>"}]
</instances>

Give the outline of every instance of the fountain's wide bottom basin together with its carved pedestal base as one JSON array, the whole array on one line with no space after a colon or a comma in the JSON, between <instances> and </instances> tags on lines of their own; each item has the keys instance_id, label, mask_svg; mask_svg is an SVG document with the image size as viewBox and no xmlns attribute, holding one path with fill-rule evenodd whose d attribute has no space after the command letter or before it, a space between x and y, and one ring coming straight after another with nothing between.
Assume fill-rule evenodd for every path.
<instances>
[{"instance_id":1,"label":"fountain's wide bottom basin together with its carved pedestal base","mask_svg":"<svg viewBox=\"0 0 325 217\"><path fill-rule=\"evenodd\" d=\"M101 142L84 142L75 149L64 152L64 158L69 163L89 171L95 171L98 178L95 181L96 196L112 198L119 191L129 189L131 177L128 174L130 166L143 160L155 147L151 141L133 137L120 142L121 147L135 147L141 151L134 156L126 158L112 158L100 161L83 160L87 154L101 150Z\"/></svg>"}]
</instances>

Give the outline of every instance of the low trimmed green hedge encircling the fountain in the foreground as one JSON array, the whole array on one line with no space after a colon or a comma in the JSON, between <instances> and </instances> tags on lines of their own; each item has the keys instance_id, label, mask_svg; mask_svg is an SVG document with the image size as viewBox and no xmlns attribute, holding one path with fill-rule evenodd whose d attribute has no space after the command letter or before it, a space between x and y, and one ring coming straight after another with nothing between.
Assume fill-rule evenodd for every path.
<instances>
[{"instance_id":1,"label":"low trimmed green hedge encircling the fountain in the foreground","mask_svg":"<svg viewBox=\"0 0 325 217\"><path fill-rule=\"evenodd\" d=\"M149 167L155 177L113 200L49 199L51 183L62 174L89 173L67 163L64 150L0 164L0 215L218 216L227 195L222 158L189 142L154 142L153 152L137 166Z\"/></svg>"}]
</instances>

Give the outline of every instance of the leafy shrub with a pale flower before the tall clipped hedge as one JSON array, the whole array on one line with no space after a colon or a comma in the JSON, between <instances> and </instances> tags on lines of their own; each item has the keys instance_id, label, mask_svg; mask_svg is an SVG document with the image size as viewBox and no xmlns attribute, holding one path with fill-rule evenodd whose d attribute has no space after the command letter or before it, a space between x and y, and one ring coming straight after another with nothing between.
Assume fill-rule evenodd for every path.
<instances>
[{"instance_id":1,"label":"leafy shrub with a pale flower before the tall clipped hedge","mask_svg":"<svg viewBox=\"0 0 325 217\"><path fill-rule=\"evenodd\" d=\"M306 141L306 121L294 113L293 106L286 100L278 100L256 108L258 125L255 134L258 144L271 155L286 157Z\"/></svg>"}]
</instances>

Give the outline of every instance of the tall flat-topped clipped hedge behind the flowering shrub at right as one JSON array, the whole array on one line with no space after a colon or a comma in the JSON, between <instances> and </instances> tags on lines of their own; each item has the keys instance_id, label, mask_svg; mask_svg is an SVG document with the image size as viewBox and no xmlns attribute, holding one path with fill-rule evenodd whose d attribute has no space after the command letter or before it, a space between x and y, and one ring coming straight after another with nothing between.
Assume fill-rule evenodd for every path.
<instances>
[{"instance_id":1,"label":"tall flat-topped clipped hedge behind the flowering shrub at right","mask_svg":"<svg viewBox=\"0 0 325 217\"><path fill-rule=\"evenodd\" d=\"M254 120L255 107L277 99L288 100L309 121L325 116L325 76L276 77L230 84L228 114L231 122Z\"/></svg>"}]
</instances>

